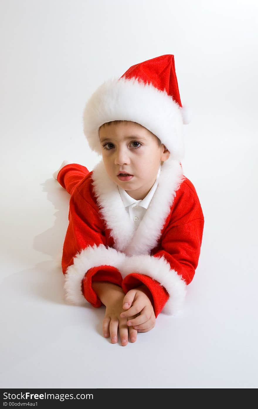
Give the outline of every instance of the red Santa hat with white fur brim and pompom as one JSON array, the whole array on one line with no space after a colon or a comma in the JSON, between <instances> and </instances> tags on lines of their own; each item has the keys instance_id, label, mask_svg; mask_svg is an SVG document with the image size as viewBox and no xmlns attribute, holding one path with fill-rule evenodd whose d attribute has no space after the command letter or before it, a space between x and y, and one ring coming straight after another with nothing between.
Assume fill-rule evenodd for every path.
<instances>
[{"instance_id":1,"label":"red Santa hat with white fur brim and pompom","mask_svg":"<svg viewBox=\"0 0 258 409\"><path fill-rule=\"evenodd\" d=\"M160 139L171 159L184 157L182 125L189 119L182 108L173 55L132 65L91 95L83 113L83 130L93 151L102 154L100 126L116 120L137 122Z\"/></svg>"}]
</instances>

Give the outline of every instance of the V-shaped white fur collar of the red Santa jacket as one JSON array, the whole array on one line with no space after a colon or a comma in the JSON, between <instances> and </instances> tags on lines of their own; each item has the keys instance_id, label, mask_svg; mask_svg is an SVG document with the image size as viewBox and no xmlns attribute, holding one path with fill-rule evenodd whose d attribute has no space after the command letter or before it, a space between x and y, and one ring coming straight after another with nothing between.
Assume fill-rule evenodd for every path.
<instances>
[{"instance_id":1,"label":"V-shaped white fur collar of the red Santa jacket","mask_svg":"<svg viewBox=\"0 0 258 409\"><path fill-rule=\"evenodd\" d=\"M115 248L127 256L150 254L158 243L176 191L184 180L180 163L170 158L163 163L156 192L136 230L103 160L93 169L92 179L97 204L107 228L111 229Z\"/></svg>"}]
</instances>

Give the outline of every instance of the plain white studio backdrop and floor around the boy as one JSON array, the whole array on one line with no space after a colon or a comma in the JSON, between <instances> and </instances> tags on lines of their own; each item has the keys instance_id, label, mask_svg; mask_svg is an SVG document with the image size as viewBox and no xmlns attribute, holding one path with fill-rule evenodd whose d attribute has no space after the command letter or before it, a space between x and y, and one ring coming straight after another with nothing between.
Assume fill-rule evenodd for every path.
<instances>
[{"instance_id":1,"label":"plain white studio backdrop and floor around the boy","mask_svg":"<svg viewBox=\"0 0 258 409\"><path fill-rule=\"evenodd\" d=\"M0 16L1 387L257 388L257 2L2 0ZM122 347L105 307L64 301L52 173L92 170L87 99L163 54L192 110L182 166L205 228L183 313Z\"/></svg>"}]
</instances>

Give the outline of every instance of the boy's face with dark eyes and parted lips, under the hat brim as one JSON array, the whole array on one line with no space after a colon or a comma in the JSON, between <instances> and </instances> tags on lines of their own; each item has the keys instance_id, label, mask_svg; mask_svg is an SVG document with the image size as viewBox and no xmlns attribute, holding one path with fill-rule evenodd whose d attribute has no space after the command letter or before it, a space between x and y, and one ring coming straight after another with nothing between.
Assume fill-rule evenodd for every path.
<instances>
[{"instance_id":1,"label":"boy's face with dark eyes and parted lips, under the hat brim","mask_svg":"<svg viewBox=\"0 0 258 409\"><path fill-rule=\"evenodd\" d=\"M102 125L99 129L106 171L116 184L136 200L142 200L153 186L161 161L169 151L143 126L131 121ZM130 177L119 176L128 173Z\"/></svg>"}]
</instances>

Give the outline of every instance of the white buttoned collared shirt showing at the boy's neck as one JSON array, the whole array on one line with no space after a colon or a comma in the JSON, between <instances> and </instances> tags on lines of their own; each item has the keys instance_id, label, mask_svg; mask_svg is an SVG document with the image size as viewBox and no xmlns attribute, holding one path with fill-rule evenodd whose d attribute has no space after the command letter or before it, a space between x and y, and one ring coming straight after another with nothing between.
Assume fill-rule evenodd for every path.
<instances>
[{"instance_id":1,"label":"white buttoned collared shirt showing at the boy's neck","mask_svg":"<svg viewBox=\"0 0 258 409\"><path fill-rule=\"evenodd\" d=\"M142 200L135 200L131 196L129 196L128 193L126 193L125 189L122 189L120 186L118 186L118 191L120 193L122 202L125 206L125 209L129 213L130 219L132 220L135 228L138 227L140 221L142 220L143 216L146 213L146 210L149 207L149 204L151 202L151 199L153 198L154 193L156 192L156 189L158 187L158 178L160 175L160 170L161 170L161 165L158 169L158 174L156 177L156 180L144 199Z\"/></svg>"}]
</instances>

